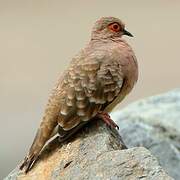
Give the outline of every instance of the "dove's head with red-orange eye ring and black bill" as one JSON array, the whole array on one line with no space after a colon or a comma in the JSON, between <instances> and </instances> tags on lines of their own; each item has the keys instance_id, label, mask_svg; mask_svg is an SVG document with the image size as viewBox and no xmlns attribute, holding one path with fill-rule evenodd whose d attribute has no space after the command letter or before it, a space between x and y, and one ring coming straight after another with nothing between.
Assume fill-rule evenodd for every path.
<instances>
[{"instance_id":1,"label":"dove's head with red-orange eye ring and black bill","mask_svg":"<svg viewBox=\"0 0 180 180\"><path fill-rule=\"evenodd\" d=\"M102 17L97 20L91 34L92 39L115 39L123 35L133 35L125 29L125 24L115 17Z\"/></svg>"}]
</instances>

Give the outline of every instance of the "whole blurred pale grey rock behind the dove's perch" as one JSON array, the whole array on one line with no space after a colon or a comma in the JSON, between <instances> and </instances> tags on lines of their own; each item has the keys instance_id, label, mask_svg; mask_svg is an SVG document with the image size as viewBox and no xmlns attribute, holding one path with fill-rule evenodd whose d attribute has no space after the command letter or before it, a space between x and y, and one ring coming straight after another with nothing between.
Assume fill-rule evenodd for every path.
<instances>
[{"instance_id":1,"label":"whole blurred pale grey rock behind the dove's perch","mask_svg":"<svg viewBox=\"0 0 180 180\"><path fill-rule=\"evenodd\" d=\"M143 146L180 179L180 90L153 96L112 113L128 147Z\"/></svg>"}]
</instances>

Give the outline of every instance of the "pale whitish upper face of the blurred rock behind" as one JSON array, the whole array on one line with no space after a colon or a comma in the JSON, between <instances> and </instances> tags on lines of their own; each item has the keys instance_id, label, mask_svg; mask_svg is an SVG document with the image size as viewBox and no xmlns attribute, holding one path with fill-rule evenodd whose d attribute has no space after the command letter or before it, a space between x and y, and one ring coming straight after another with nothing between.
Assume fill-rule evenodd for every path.
<instances>
[{"instance_id":1,"label":"pale whitish upper face of the blurred rock behind","mask_svg":"<svg viewBox=\"0 0 180 180\"><path fill-rule=\"evenodd\" d=\"M180 89L132 103L112 114L113 118L163 125L180 133Z\"/></svg>"}]
</instances>

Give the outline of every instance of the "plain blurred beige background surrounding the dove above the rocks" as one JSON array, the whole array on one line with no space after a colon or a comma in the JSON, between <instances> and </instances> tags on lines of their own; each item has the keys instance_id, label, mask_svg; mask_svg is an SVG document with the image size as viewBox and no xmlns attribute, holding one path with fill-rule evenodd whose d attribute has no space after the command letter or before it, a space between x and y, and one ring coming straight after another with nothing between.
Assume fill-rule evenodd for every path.
<instances>
[{"instance_id":1,"label":"plain blurred beige background surrounding the dove above the rocks","mask_svg":"<svg viewBox=\"0 0 180 180\"><path fill-rule=\"evenodd\" d=\"M126 22L139 62L119 108L180 87L180 1L0 0L0 179L24 158L50 90L102 16Z\"/></svg>"}]
</instances>

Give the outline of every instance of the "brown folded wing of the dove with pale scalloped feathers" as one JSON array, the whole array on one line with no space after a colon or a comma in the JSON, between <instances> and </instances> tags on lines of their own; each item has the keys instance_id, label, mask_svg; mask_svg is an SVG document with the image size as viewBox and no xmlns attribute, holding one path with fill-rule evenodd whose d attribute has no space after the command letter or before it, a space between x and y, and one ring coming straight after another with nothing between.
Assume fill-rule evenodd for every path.
<instances>
[{"instance_id":1,"label":"brown folded wing of the dove with pale scalloped feathers","mask_svg":"<svg viewBox=\"0 0 180 180\"><path fill-rule=\"evenodd\" d=\"M88 121L119 94L123 76L116 61L94 57L73 63L63 79L64 97L59 113L59 124L70 130Z\"/></svg>"}]
</instances>

